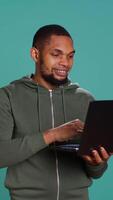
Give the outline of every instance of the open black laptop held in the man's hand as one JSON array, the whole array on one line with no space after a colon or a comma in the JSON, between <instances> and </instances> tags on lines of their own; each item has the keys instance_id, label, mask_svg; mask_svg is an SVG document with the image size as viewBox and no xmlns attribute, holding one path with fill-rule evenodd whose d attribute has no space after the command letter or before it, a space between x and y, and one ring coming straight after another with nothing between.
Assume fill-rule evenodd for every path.
<instances>
[{"instance_id":1,"label":"open black laptop held in the man's hand","mask_svg":"<svg viewBox=\"0 0 113 200\"><path fill-rule=\"evenodd\" d=\"M108 152L113 152L113 100L90 102L81 142L75 141L58 144L56 149L89 155L91 149L98 150L103 146Z\"/></svg>"}]
</instances>

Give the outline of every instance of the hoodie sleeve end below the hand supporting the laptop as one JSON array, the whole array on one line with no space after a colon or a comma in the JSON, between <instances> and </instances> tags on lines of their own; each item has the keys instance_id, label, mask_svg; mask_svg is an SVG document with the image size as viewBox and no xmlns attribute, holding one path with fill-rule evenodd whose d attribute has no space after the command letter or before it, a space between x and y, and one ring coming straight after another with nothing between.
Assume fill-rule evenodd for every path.
<instances>
[{"instance_id":1,"label":"hoodie sleeve end below the hand supporting the laptop","mask_svg":"<svg viewBox=\"0 0 113 200\"><path fill-rule=\"evenodd\" d=\"M95 165L95 166L86 164L86 172L89 177L97 179L97 178L100 178L104 174L107 167L108 167L107 162L103 162L102 164Z\"/></svg>"}]
</instances>

